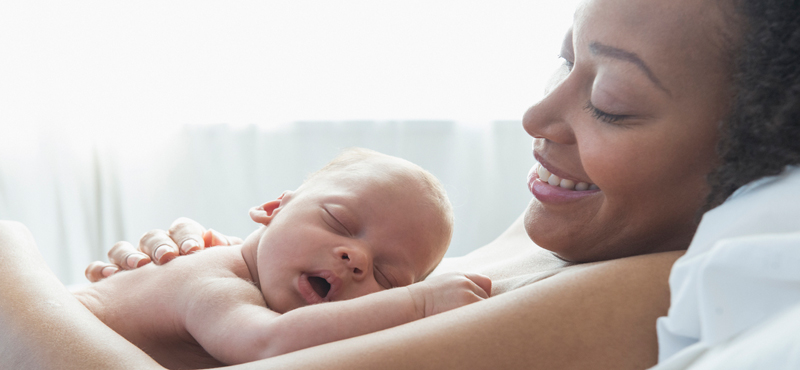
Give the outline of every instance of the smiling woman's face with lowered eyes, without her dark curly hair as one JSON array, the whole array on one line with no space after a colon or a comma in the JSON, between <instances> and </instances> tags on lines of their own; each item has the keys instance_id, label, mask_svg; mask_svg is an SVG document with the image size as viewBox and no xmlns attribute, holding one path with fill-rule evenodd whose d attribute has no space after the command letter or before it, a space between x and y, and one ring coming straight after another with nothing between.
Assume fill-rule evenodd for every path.
<instances>
[{"instance_id":1,"label":"smiling woman's face with lowered eyes, without her dark curly hair","mask_svg":"<svg viewBox=\"0 0 800 370\"><path fill-rule=\"evenodd\" d=\"M718 3L579 6L564 64L523 119L548 170L529 179L525 228L534 242L578 262L688 246L729 109ZM552 186L542 181L548 173L596 188Z\"/></svg>"}]
</instances>

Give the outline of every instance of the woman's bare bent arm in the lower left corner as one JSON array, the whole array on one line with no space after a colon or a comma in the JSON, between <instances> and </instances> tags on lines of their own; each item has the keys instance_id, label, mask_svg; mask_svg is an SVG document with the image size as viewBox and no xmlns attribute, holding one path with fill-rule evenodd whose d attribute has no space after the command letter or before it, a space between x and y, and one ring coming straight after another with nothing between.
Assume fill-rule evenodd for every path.
<instances>
[{"instance_id":1,"label":"woman's bare bent arm in the lower left corner","mask_svg":"<svg viewBox=\"0 0 800 370\"><path fill-rule=\"evenodd\" d=\"M78 302L22 224L0 221L0 363L9 369L161 368Z\"/></svg>"}]
</instances>

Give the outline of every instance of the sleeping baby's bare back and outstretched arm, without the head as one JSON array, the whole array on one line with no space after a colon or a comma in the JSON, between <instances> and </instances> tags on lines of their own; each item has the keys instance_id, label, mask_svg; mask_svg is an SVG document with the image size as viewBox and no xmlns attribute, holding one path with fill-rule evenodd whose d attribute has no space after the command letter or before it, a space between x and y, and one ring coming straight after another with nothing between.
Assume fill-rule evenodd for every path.
<instances>
[{"instance_id":1,"label":"sleeping baby's bare back and outstretched arm, without the head","mask_svg":"<svg viewBox=\"0 0 800 370\"><path fill-rule=\"evenodd\" d=\"M471 278L490 284L488 279ZM165 286L165 280L180 283ZM159 294L148 299L124 294L132 284ZM75 292L75 296L103 323L161 365L208 368L404 324L487 298L484 289L491 288L478 288L464 275L451 274L281 315L266 307L252 284L242 246L233 246L182 257L163 267L149 264L116 274ZM436 296L442 292L447 294ZM429 293L436 296L431 302L426 300ZM426 311L426 306L431 309ZM120 312L125 314L118 315Z\"/></svg>"}]
</instances>

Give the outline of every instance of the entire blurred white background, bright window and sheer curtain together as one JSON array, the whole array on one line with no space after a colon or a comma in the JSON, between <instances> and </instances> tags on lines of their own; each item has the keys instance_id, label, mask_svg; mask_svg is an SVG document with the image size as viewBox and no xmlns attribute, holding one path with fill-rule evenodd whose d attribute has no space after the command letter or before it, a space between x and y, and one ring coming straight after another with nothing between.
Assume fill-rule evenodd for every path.
<instances>
[{"instance_id":1,"label":"entire blurred white background, bright window and sheer curtain together","mask_svg":"<svg viewBox=\"0 0 800 370\"><path fill-rule=\"evenodd\" d=\"M0 219L79 283L180 216L245 237L359 146L444 183L464 255L530 200L521 117L576 2L0 2Z\"/></svg>"}]
</instances>

